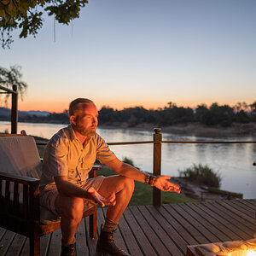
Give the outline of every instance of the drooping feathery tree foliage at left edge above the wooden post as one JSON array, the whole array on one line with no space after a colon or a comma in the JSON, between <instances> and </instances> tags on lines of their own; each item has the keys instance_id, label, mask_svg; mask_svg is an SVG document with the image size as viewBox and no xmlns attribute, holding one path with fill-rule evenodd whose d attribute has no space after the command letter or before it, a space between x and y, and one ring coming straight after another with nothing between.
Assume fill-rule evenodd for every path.
<instances>
[{"instance_id":1,"label":"drooping feathery tree foliage at left edge above the wooden post","mask_svg":"<svg viewBox=\"0 0 256 256\"><path fill-rule=\"evenodd\" d=\"M13 85L17 85L17 90L21 99L23 98L27 84L21 81L22 74L20 73L20 66L10 66L9 69L0 67L0 85L10 90L13 89ZM10 94L4 96L4 102L7 103ZM1 98L0 98L1 100Z\"/></svg>"}]
</instances>

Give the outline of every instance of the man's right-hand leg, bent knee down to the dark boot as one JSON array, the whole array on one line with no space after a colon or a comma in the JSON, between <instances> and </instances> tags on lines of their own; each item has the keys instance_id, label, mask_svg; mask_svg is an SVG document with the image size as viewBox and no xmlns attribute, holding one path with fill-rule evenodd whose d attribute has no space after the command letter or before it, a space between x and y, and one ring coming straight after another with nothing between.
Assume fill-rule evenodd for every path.
<instances>
[{"instance_id":1,"label":"man's right-hand leg, bent knee down to the dark boot","mask_svg":"<svg viewBox=\"0 0 256 256\"><path fill-rule=\"evenodd\" d=\"M108 197L113 192L116 195L115 206L109 206L106 214L105 224L97 242L97 253L109 253L110 255L129 255L114 244L113 232L119 223L119 218L125 212L125 208L131 200L134 190L134 181L128 177L111 176L106 177L102 182L98 193Z\"/></svg>"}]
</instances>

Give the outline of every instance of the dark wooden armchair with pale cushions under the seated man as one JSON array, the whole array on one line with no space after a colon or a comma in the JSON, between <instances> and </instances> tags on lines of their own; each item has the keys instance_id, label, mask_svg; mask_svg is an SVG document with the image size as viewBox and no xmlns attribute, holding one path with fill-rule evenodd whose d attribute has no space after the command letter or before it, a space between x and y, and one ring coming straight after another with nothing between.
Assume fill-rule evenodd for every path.
<instances>
[{"instance_id":1,"label":"dark wooden armchair with pale cushions under the seated man","mask_svg":"<svg viewBox=\"0 0 256 256\"><path fill-rule=\"evenodd\" d=\"M41 166L33 137L24 133L0 135L0 226L29 237L30 255L40 255L40 236L61 228L60 219L43 224L40 218L43 215L38 199ZM100 168L94 166L90 177L96 177ZM96 205L84 212L84 217L87 216L90 237L95 237Z\"/></svg>"}]
</instances>

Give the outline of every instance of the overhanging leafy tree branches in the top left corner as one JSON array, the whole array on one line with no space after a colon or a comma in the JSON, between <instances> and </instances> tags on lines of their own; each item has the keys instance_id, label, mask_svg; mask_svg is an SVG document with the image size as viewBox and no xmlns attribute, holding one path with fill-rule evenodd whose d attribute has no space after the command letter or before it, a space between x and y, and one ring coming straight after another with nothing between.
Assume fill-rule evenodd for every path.
<instances>
[{"instance_id":1,"label":"overhanging leafy tree branches in the top left corner","mask_svg":"<svg viewBox=\"0 0 256 256\"><path fill-rule=\"evenodd\" d=\"M34 37L43 26L43 12L54 15L61 24L69 24L79 18L87 0L1 0L0 1L0 41L3 49L13 43L11 32L20 28L20 38L28 34ZM42 11L40 11L42 10Z\"/></svg>"}]
</instances>

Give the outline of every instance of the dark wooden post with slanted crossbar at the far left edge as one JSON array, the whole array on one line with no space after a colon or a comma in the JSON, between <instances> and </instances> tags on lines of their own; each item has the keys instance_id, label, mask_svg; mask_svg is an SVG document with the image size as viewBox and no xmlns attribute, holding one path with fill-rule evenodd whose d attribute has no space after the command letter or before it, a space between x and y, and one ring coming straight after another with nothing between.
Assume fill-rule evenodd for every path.
<instances>
[{"instance_id":1,"label":"dark wooden post with slanted crossbar at the far left edge","mask_svg":"<svg viewBox=\"0 0 256 256\"><path fill-rule=\"evenodd\" d=\"M12 95L12 112L11 112L11 133L17 133L17 124L18 124L18 92L17 85L13 85L13 90L9 90L0 85L0 94L9 94Z\"/></svg>"}]
</instances>

